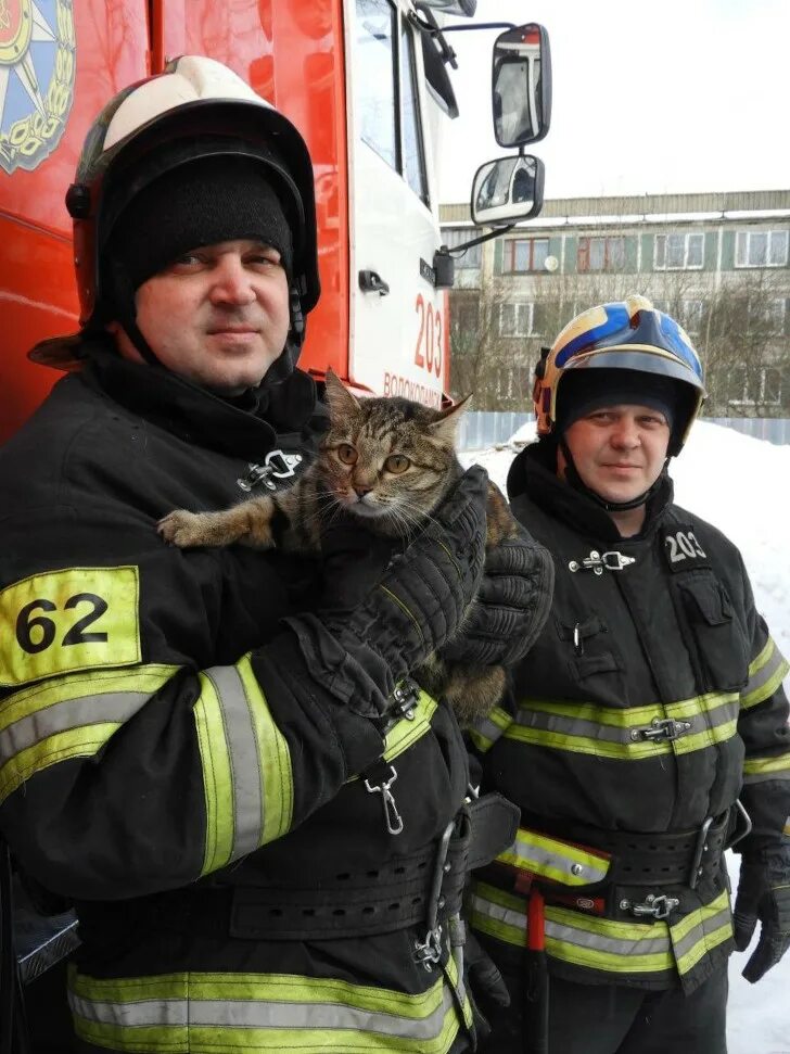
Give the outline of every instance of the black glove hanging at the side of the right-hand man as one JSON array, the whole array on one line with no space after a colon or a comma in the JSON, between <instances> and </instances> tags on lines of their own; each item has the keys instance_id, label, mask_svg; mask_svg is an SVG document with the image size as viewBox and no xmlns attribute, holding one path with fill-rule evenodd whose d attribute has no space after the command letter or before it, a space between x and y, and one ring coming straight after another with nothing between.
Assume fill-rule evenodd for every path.
<instances>
[{"instance_id":1,"label":"black glove hanging at the side of the right-hand man","mask_svg":"<svg viewBox=\"0 0 790 1054\"><path fill-rule=\"evenodd\" d=\"M741 863L735 901L735 947L743 952L760 919L760 940L743 976L753 985L790 948L790 845L764 849Z\"/></svg>"}]
</instances>

